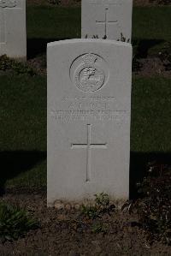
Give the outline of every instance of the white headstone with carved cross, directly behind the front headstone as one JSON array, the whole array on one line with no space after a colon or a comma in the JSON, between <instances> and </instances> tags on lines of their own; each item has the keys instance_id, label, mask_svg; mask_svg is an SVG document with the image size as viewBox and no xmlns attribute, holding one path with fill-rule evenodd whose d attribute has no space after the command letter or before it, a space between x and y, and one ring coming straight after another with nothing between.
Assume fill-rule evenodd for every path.
<instances>
[{"instance_id":1,"label":"white headstone with carved cross, directly behind the front headstone","mask_svg":"<svg viewBox=\"0 0 171 256\"><path fill-rule=\"evenodd\" d=\"M133 0L82 0L82 39L131 41Z\"/></svg>"}]
</instances>

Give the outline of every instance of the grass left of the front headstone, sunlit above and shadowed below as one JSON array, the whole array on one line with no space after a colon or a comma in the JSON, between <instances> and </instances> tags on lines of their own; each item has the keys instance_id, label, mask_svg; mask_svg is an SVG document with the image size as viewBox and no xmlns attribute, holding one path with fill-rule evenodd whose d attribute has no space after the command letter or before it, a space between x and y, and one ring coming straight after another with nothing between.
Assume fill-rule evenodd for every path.
<instances>
[{"instance_id":1,"label":"grass left of the front headstone, sunlit above and shadowed below","mask_svg":"<svg viewBox=\"0 0 171 256\"><path fill-rule=\"evenodd\" d=\"M46 78L3 75L0 85L0 184L44 186Z\"/></svg>"}]
</instances>

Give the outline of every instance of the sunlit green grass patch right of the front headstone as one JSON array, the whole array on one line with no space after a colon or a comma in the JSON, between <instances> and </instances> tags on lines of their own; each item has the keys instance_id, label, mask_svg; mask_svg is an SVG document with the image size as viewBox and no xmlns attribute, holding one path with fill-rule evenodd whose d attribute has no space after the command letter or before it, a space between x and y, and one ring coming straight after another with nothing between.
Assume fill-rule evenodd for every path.
<instances>
[{"instance_id":1,"label":"sunlit green grass patch right of the front headstone","mask_svg":"<svg viewBox=\"0 0 171 256\"><path fill-rule=\"evenodd\" d=\"M133 152L171 152L171 80L133 79Z\"/></svg>"}]
</instances>

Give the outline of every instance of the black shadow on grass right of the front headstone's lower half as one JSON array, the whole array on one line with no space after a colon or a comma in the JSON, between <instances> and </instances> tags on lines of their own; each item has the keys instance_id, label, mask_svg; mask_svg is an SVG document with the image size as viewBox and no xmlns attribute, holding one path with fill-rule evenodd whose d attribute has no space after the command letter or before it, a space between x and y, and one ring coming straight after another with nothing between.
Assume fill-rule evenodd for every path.
<instances>
[{"instance_id":1,"label":"black shadow on grass right of the front headstone's lower half","mask_svg":"<svg viewBox=\"0 0 171 256\"><path fill-rule=\"evenodd\" d=\"M147 175L148 164L151 162L156 164L171 165L171 152L131 152L130 156L130 199L137 199L137 182L142 182L144 176Z\"/></svg>"}]
</instances>

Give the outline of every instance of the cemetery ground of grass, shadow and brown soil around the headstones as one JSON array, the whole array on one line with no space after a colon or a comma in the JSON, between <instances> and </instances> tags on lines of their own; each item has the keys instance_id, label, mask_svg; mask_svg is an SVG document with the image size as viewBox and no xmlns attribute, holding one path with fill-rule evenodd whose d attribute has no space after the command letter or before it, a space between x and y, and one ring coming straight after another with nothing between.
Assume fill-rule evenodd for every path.
<instances>
[{"instance_id":1,"label":"cemetery ground of grass, shadow and brown soil around the headstones","mask_svg":"<svg viewBox=\"0 0 171 256\"><path fill-rule=\"evenodd\" d=\"M147 170L156 171L156 176L159 172L159 184L165 188L152 182L155 189L162 189L153 192L153 205L157 205L156 194L161 199L161 193L170 192L170 16L170 7L133 9L130 193L132 199L139 196L136 183ZM150 235L153 230L144 230L136 207L127 211L132 205L117 211L103 199L96 208L46 208L45 49L47 42L72 38L80 38L80 7L31 5L27 8L27 65L0 58L0 200L26 208L38 221L37 229L18 240L1 242L1 255L170 255L163 239L168 238L166 230L161 226L162 240L160 235ZM162 178L163 173L167 175ZM162 201L168 200L164 196ZM154 211L149 212L155 221Z\"/></svg>"}]
</instances>

